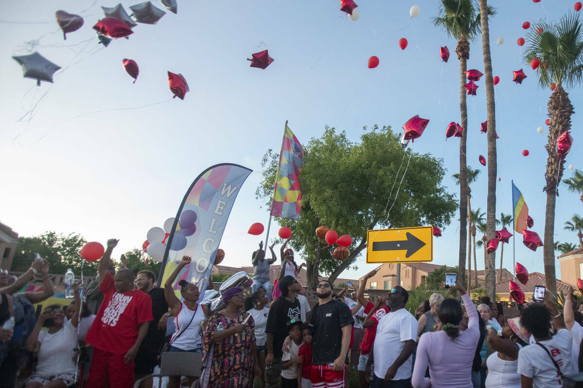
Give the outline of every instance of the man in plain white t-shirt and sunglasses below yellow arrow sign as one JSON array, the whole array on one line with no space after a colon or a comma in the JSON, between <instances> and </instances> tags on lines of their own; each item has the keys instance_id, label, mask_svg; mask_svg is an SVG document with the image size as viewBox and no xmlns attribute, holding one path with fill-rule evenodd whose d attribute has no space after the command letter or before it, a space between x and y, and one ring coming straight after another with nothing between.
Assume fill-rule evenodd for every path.
<instances>
[{"instance_id":1,"label":"man in plain white t-shirt and sunglasses below yellow arrow sign","mask_svg":"<svg viewBox=\"0 0 583 388\"><path fill-rule=\"evenodd\" d=\"M417 339L417 320L405 309L409 293L396 286L387 297L391 311L377 327L374 339L374 380L371 388L408 388L411 385L412 358Z\"/></svg>"}]
</instances>

